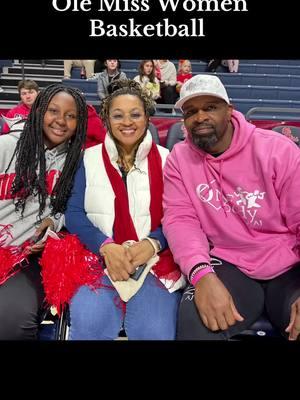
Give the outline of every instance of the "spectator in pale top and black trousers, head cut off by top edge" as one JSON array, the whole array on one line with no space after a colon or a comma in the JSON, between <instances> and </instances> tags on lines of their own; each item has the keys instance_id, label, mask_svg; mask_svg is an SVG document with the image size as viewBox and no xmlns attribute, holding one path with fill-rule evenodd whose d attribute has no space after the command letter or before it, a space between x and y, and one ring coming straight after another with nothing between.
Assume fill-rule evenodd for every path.
<instances>
[{"instance_id":1,"label":"spectator in pale top and black trousers, head cut off by top edge","mask_svg":"<svg viewBox=\"0 0 300 400\"><path fill-rule=\"evenodd\" d=\"M176 82L177 72L175 65L169 60L158 60L161 72L160 101L163 104L174 104L177 98ZM170 110L170 112L172 112Z\"/></svg>"}]
</instances>

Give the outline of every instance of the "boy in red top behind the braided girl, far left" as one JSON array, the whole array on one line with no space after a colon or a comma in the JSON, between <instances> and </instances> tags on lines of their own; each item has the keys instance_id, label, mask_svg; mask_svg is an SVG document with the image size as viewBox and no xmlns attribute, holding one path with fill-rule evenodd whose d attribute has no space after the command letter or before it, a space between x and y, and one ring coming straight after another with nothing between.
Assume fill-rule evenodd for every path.
<instances>
[{"instance_id":1,"label":"boy in red top behind the braided girl, far left","mask_svg":"<svg viewBox=\"0 0 300 400\"><path fill-rule=\"evenodd\" d=\"M39 86L35 81L25 79L18 83L18 92L21 102L19 105L9 110L5 115L5 118L19 118L19 121L26 119L39 93ZM9 125L7 123L4 124L2 133L7 133L9 130Z\"/></svg>"}]
</instances>

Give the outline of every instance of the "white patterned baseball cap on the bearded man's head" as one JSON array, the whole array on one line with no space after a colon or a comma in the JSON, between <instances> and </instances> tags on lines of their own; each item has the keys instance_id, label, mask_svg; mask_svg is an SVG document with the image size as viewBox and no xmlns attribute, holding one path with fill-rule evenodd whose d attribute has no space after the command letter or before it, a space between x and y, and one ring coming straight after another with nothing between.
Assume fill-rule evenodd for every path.
<instances>
[{"instance_id":1,"label":"white patterned baseball cap on the bearded man's head","mask_svg":"<svg viewBox=\"0 0 300 400\"><path fill-rule=\"evenodd\" d=\"M186 101L198 96L215 96L230 104L226 89L217 76L199 74L182 85L180 98L174 107L181 109Z\"/></svg>"}]
</instances>

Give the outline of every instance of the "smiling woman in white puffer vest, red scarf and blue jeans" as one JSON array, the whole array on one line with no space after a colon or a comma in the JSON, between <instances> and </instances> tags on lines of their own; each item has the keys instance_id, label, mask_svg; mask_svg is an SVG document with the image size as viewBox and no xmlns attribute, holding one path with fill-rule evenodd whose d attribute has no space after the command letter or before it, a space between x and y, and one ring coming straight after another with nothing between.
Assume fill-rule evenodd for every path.
<instances>
[{"instance_id":1,"label":"smiling woman in white puffer vest, red scarf and blue jeans","mask_svg":"<svg viewBox=\"0 0 300 400\"><path fill-rule=\"evenodd\" d=\"M81 286L74 295L69 338L113 340L124 328L130 340L173 340L185 281L161 229L168 150L152 141L153 100L139 83L119 80L111 91L101 109L108 133L86 150L65 214L69 232L102 255L110 279L104 275L100 289ZM122 302L115 285L157 253L139 290Z\"/></svg>"}]
</instances>

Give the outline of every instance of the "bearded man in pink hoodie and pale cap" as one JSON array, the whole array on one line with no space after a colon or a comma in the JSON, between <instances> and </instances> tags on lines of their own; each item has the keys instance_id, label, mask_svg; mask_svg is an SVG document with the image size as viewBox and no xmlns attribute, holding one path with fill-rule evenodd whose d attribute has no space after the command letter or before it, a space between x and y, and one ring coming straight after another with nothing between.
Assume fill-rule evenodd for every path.
<instances>
[{"instance_id":1,"label":"bearded man in pink hoodie and pale cap","mask_svg":"<svg viewBox=\"0 0 300 400\"><path fill-rule=\"evenodd\" d=\"M226 340L265 310L300 334L300 151L233 110L216 76L181 89L187 138L164 168L163 230L186 274L178 339Z\"/></svg>"}]
</instances>

